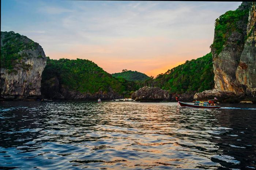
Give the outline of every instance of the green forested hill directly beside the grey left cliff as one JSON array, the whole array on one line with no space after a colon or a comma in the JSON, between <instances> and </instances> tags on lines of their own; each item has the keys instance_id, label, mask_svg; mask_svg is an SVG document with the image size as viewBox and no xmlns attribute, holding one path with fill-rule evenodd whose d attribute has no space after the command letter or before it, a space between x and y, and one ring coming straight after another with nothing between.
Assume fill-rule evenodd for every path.
<instances>
[{"instance_id":1,"label":"green forested hill directly beside the grey left cliff","mask_svg":"<svg viewBox=\"0 0 256 170\"><path fill-rule=\"evenodd\" d=\"M109 92L110 88L119 94L130 94L132 83L123 78L114 78L92 61L86 59L59 59L47 57L47 65L42 73L42 82L57 77L61 85L69 90L96 93Z\"/></svg>"}]
</instances>

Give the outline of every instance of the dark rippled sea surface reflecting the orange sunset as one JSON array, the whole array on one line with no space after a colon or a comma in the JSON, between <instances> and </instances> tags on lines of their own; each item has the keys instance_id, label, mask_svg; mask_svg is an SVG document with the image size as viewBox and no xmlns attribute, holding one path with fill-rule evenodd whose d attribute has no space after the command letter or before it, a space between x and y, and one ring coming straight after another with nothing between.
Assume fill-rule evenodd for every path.
<instances>
[{"instance_id":1,"label":"dark rippled sea surface reflecting the orange sunset","mask_svg":"<svg viewBox=\"0 0 256 170\"><path fill-rule=\"evenodd\" d=\"M0 169L256 168L256 105L0 104Z\"/></svg>"}]
</instances>

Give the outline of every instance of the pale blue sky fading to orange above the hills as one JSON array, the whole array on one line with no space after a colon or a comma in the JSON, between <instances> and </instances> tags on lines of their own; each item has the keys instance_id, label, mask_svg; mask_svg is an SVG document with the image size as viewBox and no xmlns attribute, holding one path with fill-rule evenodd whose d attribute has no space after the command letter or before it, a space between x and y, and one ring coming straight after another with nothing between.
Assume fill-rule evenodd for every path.
<instances>
[{"instance_id":1,"label":"pale blue sky fading to orange above the hills","mask_svg":"<svg viewBox=\"0 0 256 170\"><path fill-rule=\"evenodd\" d=\"M1 0L1 31L51 59L89 59L108 73L165 73L210 52L214 23L241 2Z\"/></svg>"}]
</instances>

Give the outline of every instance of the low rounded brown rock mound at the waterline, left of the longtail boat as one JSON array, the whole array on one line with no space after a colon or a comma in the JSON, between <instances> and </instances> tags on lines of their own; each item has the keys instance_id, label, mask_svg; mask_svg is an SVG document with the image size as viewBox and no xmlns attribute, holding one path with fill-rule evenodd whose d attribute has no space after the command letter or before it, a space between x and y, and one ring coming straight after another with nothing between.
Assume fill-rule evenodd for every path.
<instances>
[{"instance_id":1,"label":"low rounded brown rock mound at the waterline, left of the longtail boat","mask_svg":"<svg viewBox=\"0 0 256 170\"><path fill-rule=\"evenodd\" d=\"M132 93L132 99L140 102L159 102L170 99L169 92L157 87L144 86Z\"/></svg>"}]
</instances>

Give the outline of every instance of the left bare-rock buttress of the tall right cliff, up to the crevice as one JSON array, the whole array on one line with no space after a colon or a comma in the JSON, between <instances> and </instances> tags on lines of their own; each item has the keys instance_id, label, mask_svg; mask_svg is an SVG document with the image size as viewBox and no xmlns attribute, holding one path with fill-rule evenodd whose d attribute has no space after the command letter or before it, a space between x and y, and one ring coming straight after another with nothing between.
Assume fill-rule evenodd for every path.
<instances>
[{"instance_id":1,"label":"left bare-rock buttress of the tall right cliff, up to the crevice","mask_svg":"<svg viewBox=\"0 0 256 170\"><path fill-rule=\"evenodd\" d=\"M246 4L247 3L243 3ZM243 9L245 5L241 5ZM249 8L249 7L248 7ZM238 8L240 9L240 8ZM245 16L246 17L246 16ZM228 33L228 36L225 45L222 51L218 54L215 47L211 48L212 59L213 59L213 68L214 68L214 82L215 88L223 91L231 91L239 95L243 92L240 82L236 79L236 70L240 62L241 54L244 49L244 39L246 37L246 27L248 22L248 15L246 18L242 18L234 24L234 31ZM239 29L238 29L239 28ZM240 32L238 32L238 30ZM217 39L217 33L215 30L214 42Z\"/></svg>"}]
</instances>

